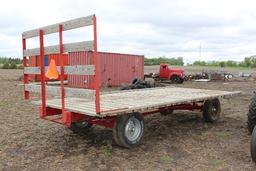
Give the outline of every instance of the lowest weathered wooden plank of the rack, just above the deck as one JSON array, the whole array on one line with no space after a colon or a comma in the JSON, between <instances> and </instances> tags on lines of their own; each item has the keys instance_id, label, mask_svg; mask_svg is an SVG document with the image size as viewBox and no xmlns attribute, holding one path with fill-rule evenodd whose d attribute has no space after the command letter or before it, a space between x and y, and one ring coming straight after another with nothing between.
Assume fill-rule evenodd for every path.
<instances>
[{"instance_id":1,"label":"lowest weathered wooden plank of the rack, just above the deck","mask_svg":"<svg viewBox=\"0 0 256 171\"><path fill-rule=\"evenodd\" d=\"M41 93L41 85L25 84L25 90L33 93ZM46 93L59 96L61 88L57 86L46 86ZM80 97L94 100L95 90L65 87L65 97Z\"/></svg>"}]
</instances>

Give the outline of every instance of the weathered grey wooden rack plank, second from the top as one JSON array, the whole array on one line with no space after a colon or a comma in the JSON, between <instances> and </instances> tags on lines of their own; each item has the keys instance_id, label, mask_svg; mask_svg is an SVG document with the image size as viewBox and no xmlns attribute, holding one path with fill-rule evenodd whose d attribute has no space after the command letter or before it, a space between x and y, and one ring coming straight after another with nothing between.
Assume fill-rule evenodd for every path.
<instances>
[{"instance_id":1,"label":"weathered grey wooden rack plank, second from the top","mask_svg":"<svg viewBox=\"0 0 256 171\"><path fill-rule=\"evenodd\" d=\"M79 52L79 51L92 51L94 49L93 41L83 41L76 43L63 44L63 51L66 52ZM44 47L44 54L58 54L60 53L59 45ZM23 50L23 56L37 56L40 54L40 48L25 49Z\"/></svg>"}]
</instances>

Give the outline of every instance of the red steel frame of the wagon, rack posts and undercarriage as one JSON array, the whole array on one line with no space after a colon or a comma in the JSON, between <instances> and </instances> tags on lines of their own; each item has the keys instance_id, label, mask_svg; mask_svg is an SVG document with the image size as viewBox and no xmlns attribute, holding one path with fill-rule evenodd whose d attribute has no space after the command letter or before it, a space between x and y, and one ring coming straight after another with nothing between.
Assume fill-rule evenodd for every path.
<instances>
[{"instance_id":1,"label":"red steel frame of the wagon, rack posts and undercarriage","mask_svg":"<svg viewBox=\"0 0 256 171\"><path fill-rule=\"evenodd\" d=\"M95 105L96 113L100 115L100 87L99 87L99 56L98 56L98 47L97 47L97 25L96 25L96 16L93 16L93 37L94 37L94 63L95 63L95 75L94 75L94 90L95 90ZM46 80L45 80L45 68L44 68L44 31L39 29L39 40L40 40L40 70L41 70L41 98L42 106L39 107L40 117L52 122L60 123L69 127L72 122L77 121L86 121L90 124L100 125L106 128L113 128L115 124L116 117L118 116L108 116L108 117L90 117L87 115L74 113L65 110L65 89L64 89L64 62L61 60L60 66L60 80L61 80L61 109L51 108L46 106ZM60 58L64 52L63 49L63 26L59 24L58 27L59 33L59 55ZM26 38L22 39L23 50L26 50ZM23 56L23 65L27 66L27 57ZM28 84L28 74L24 73L24 84ZM24 98L29 99L29 92L24 89ZM171 105L166 107L160 107L155 110L143 112L142 115L150 115L158 113L161 111L167 110L202 110L203 102L198 101L194 103L187 103L181 105ZM57 116L52 118L53 116Z\"/></svg>"}]
</instances>

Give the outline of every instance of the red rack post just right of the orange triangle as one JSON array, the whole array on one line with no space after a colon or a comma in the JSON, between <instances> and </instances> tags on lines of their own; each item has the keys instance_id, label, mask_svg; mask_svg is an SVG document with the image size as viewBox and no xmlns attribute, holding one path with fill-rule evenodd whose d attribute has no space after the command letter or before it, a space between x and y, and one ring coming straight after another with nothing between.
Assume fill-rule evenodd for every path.
<instances>
[{"instance_id":1,"label":"red rack post just right of the orange triangle","mask_svg":"<svg viewBox=\"0 0 256 171\"><path fill-rule=\"evenodd\" d=\"M62 37L62 24L59 25L59 45L60 45L60 82L61 82L61 109L62 113L65 112L65 90L64 90L64 62L62 59L63 54L63 37Z\"/></svg>"}]
</instances>

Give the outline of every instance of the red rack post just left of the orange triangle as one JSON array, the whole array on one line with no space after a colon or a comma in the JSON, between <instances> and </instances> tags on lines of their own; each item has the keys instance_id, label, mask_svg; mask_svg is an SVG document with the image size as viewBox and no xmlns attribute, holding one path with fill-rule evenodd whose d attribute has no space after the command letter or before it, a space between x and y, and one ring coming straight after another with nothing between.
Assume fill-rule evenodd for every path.
<instances>
[{"instance_id":1,"label":"red rack post just left of the orange triangle","mask_svg":"<svg viewBox=\"0 0 256 171\"><path fill-rule=\"evenodd\" d=\"M41 96L42 96L42 117L46 116L46 94L45 94L45 71L44 71L44 32L39 30L40 36L40 62L41 62Z\"/></svg>"}]
</instances>

